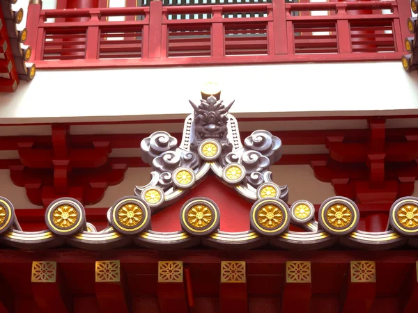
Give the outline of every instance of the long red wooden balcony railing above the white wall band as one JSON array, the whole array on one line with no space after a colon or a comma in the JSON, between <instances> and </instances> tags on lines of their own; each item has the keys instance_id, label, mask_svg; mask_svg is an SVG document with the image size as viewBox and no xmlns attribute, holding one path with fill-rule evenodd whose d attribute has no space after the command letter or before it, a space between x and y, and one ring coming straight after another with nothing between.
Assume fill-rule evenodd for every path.
<instances>
[{"instance_id":1,"label":"long red wooden balcony railing above the white wall band","mask_svg":"<svg viewBox=\"0 0 418 313\"><path fill-rule=\"evenodd\" d=\"M318 10L329 14L311 15ZM111 21L116 16L125 20ZM409 16L403 0L164 7L152 1L75 10L31 4L27 27L39 68L385 61L403 55Z\"/></svg>"}]
</instances>

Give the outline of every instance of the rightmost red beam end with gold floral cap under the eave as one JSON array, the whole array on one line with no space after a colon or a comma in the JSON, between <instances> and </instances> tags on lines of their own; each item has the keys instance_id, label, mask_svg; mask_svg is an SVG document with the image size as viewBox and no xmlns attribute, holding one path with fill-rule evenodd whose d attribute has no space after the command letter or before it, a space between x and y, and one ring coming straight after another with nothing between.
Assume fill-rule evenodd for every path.
<instances>
[{"instance_id":1,"label":"rightmost red beam end with gold floral cap under the eave","mask_svg":"<svg viewBox=\"0 0 418 313\"><path fill-rule=\"evenodd\" d=\"M341 290L341 313L367 313L376 295L376 264L352 261Z\"/></svg>"}]
</instances>

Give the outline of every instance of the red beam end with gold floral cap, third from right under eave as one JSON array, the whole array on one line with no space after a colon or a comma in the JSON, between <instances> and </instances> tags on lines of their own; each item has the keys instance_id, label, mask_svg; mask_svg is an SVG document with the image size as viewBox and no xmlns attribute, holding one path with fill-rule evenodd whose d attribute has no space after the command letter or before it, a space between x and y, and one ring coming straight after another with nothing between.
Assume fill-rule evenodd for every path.
<instances>
[{"instance_id":1,"label":"red beam end with gold floral cap, third from right under eave","mask_svg":"<svg viewBox=\"0 0 418 313\"><path fill-rule=\"evenodd\" d=\"M248 312L245 262L221 262L219 307L221 313Z\"/></svg>"}]
</instances>

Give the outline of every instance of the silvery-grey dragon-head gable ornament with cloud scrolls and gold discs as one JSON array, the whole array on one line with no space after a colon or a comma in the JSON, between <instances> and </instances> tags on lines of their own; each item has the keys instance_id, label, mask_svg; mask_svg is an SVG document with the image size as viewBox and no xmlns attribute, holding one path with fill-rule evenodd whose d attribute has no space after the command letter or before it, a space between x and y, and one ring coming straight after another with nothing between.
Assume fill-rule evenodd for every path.
<instances>
[{"instance_id":1,"label":"silvery-grey dragon-head gable ornament with cloud scrolls and gold discs","mask_svg":"<svg viewBox=\"0 0 418 313\"><path fill-rule=\"evenodd\" d=\"M275 198L286 201L288 187L274 184L269 170L281 158L281 140L269 131L256 130L242 145L238 122L229 113L234 101L225 106L220 90L213 86L201 94L199 105L189 100L194 113L185 119L180 145L166 131L155 131L141 141L141 158L153 166L153 172L146 186L136 186L135 194L154 213L183 195L211 169L251 202L263 198L260 187L272 188L277 191ZM157 198L164 200L153 203L150 193L158 193Z\"/></svg>"}]
</instances>

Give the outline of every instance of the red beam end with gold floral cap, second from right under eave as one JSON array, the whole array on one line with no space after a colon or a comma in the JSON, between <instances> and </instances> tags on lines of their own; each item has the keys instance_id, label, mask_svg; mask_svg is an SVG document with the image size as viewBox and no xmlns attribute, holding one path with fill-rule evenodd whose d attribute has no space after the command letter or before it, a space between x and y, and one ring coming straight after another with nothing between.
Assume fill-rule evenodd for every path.
<instances>
[{"instance_id":1,"label":"red beam end with gold floral cap, second from right under eave","mask_svg":"<svg viewBox=\"0 0 418 313\"><path fill-rule=\"evenodd\" d=\"M311 294L311 262L286 262L286 282L281 294L281 313L311 312Z\"/></svg>"}]
</instances>

